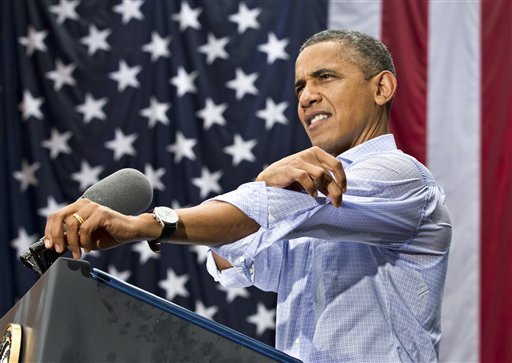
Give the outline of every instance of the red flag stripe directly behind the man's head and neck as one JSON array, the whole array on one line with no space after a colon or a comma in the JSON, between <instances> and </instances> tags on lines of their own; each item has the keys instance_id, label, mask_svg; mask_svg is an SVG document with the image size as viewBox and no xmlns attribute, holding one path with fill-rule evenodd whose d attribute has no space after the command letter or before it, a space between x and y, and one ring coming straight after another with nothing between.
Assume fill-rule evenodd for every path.
<instances>
[{"instance_id":1,"label":"red flag stripe directly behind the man's head and neck","mask_svg":"<svg viewBox=\"0 0 512 363\"><path fill-rule=\"evenodd\" d=\"M428 2L383 0L381 39L398 73L391 131L399 148L426 163Z\"/></svg>"}]
</instances>

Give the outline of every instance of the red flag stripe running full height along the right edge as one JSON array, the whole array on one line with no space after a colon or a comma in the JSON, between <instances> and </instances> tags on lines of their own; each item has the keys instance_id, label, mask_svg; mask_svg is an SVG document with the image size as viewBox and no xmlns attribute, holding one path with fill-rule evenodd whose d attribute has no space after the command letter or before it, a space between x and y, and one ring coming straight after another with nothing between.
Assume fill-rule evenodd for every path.
<instances>
[{"instance_id":1,"label":"red flag stripe running full height along the right edge","mask_svg":"<svg viewBox=\"0 0 512 363\"><path fill-rule=\"evenodd\" d=\"M512 362L512 2L482 1L482 362Z\"/></svg>"}]
</instances>

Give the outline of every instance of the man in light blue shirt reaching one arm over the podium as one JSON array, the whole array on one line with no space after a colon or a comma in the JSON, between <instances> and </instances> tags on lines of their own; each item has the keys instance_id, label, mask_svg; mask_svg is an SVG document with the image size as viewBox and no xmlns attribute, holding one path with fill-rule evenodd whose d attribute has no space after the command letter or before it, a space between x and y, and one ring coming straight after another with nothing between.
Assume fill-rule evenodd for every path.
<instances>
[{"instance_id":1,"label":"man in light blue shirt reaching one arm over the podium","mask_svg":"<svg viewBox=\"0 0 512 363\"><path fill-rule=\"evenodd\" d=\"M79 257L144 239L206 244L216 280L277 292L277 349L311 362L436 361L451 225L442 189L389 134L391 56L367 35L324 31L295 70L312 148L178 210L172 235L155 222L165 217L79 200L49 217L46 246Z\"/></svg>"}]
</instances>

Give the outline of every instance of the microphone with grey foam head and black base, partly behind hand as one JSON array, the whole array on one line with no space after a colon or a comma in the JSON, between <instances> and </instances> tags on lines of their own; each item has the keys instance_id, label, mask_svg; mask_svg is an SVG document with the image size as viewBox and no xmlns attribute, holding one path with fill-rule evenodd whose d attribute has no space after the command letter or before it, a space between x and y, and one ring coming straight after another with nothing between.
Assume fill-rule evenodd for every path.
<instances>
[{"instance_id":1,"label":"microphone with grey foam head and black base, partly behind hand","mask_svg":"<svg viewBox=\"0 0 512 363\"><path fill-rule=\"evenodd\" d=\"M153 188L143 173L126 168L92 185L81 198L87 198L123 214L137 215L151 204ZM20 260L25 266L42 275L64 253L45 248L42 237L23 252Z\"/></svg>"}]
</instances>

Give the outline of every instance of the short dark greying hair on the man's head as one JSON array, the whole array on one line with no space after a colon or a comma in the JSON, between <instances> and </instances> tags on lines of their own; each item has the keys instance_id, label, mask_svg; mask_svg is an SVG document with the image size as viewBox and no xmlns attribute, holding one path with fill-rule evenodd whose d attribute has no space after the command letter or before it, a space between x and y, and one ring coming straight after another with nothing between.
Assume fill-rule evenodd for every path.
<instances>
[{"instance_id":1,"label":"short dark greying hair on the man's head","mask_svg":"<svg viewBox=\"0 0 512 363\"><path fill-rule=\"evenodd\" d=\"M310 45L328 41L339 42L343 46L343 57L358 66L366 79L382 71L396 76L388 48L380 40L355 30L329 29L316 33L302 44L299 53Z\"/></svg>"}]
</instances>

